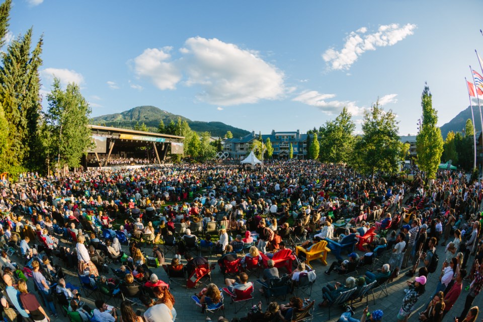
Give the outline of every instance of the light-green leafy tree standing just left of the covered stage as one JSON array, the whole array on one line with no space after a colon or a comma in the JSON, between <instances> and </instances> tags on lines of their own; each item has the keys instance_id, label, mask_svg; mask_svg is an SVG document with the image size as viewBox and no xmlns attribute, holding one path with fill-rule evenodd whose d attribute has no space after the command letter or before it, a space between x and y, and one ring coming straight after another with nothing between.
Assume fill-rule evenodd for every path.
<instances>
[{"instance_id":1,"label":"light-green leafy tree standing just left of the covered stage","mask_svg":"<svg viewBox=\"0 0 483 322\"><path fill-rule=\"evenodd\" d=\"M57 156L57 168L79 167L82 155L93 146L91 129L87 127L91 108L78 85L70 83L62 91L58 78L54 79L47 101L46 122L51 132L48 146Z\"/></svg>"}]
</instances>

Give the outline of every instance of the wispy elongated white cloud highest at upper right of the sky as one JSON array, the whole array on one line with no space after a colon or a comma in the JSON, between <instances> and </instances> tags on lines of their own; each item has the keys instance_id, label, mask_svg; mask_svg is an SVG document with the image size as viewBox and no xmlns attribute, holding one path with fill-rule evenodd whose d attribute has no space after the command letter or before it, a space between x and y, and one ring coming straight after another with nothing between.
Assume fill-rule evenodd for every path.
<instances>
[{"instance_id":1,"label":"wispy elongated white cloud highest at upper right of the sky","mask_svg":"<svg viewBox=\"0 0 483 322\"><path fill-rule=\"evenodd\" d=\"M322 54L322 58L332 69L349 69L359 56L367 50L392 46L407 36L413 35L415 29L416 25L414 24L406 24L402 27L398 24L390 24L380 26L375 33L365 34L367 28L362 27L349 34L341 51L329 48Z\"/></svg>"}]
</instances>

